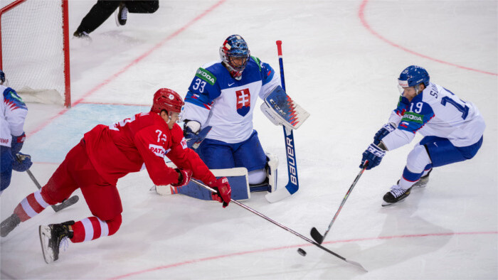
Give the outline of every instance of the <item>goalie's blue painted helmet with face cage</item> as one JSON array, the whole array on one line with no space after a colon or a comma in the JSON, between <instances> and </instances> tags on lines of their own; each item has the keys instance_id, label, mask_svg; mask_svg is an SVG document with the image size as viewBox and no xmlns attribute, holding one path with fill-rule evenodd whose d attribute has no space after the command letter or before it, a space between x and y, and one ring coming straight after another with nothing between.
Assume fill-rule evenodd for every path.
<instances>
[{"instance_id":1,"label":"goalie's blue painted helmet with face cage","mask_svg":"<svg viewBox=\"0 0 498 280\"><path fill-rule=\"evenodd\" d=\"M248 64L250 58L248 44L240 35L228 36L220 47L220 58L232 77L240 80L245 65ZM233 58L241 58L242 63L235 64Z\"/></svg>"}]
</instances>

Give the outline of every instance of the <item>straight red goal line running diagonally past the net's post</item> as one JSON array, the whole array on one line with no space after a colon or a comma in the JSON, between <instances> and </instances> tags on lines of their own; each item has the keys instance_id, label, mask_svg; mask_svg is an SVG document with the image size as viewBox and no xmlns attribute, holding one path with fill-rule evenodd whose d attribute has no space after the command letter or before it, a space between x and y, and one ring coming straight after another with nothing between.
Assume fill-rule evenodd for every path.
<instances>
[{"instance_id":1,"label":"straight red goal line running diagonally past the net's post","mask_svg":"<svg viewBox=\"0 0 498 280\"><path fill-rule=\"evenodd\" d=\"M195 18L193 18L191 21L189 21L184 26L182 26L181 28L179 28L178 30L176 30L174 33L171 33L171 35L169 35L168 37L164 38L163 41L157 43L157 45L154 45L154 47L152 47L151 49L147 50L145 53L143 53L142 55L140 55L138 58L135 58L131 63L129 63L128 65L124 66L124 68L122 68L121 70L117 71L114 75L108 77L103 82L101 82L99 85L93 87L91 90L89 90L88 92L86 92L83 95L83 97L81 97L80 99L78 99L75 102L73 102L72 106L75 106L75 105L77 105L79 103L83 103L83 99L89 97L90 95L92 95L97 90L100 90L102 87L104 87L105 85L107 85L110 82L112 82L113 80L115 80L122 73L126 72L129 68L131 68L132 66L136 65L137 63L139 63L140 61L142 61L144 58L147 58L147 56L149 56L151 53L153 53L154 50L157 50L157 49L161 48L165 43L167 43L171 39L173 39L176 36L178 36L180 33L182 33L183 31L185 31L191 25L193 25L194 23L196 23L196 21L200 20L201 18L203 18L207 14L211 13L211 11L213 11L216 8L218 8L218 6L220 6L221 4L223 4L223 2L225 2L225 1L226 0L220 0L220 1L216 2L216 4L214 4L213 6L209 7L206 10L204 10L202 12L202 14L200 14L200 15L196 16ZM36 132L38 132L41 129L45 128L45 126L47 126L48 124L50 124L53 121L53 119L55 119L55 118L57 118L57 117L65 114L65 112L68 112L68 109L62 109L60 112L58 112L58 114L56 114L55 116L51 117L46 122L44 122L43 124L41 124L40 126L38 126L36 129L34 129L33 131L31 131L29 133L29 136L31 136L32 134L36 134Z\"/></svg>"}]
</instances>

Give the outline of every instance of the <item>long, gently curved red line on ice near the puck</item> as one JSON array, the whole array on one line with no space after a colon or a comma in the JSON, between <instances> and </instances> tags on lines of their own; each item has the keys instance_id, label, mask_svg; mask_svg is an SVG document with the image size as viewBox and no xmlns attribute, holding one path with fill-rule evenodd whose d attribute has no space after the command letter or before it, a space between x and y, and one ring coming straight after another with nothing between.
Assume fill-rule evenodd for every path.
<instances>
[{"instance_id":1,"label":"long, gently curved red line on ice near the puck","mask_svg":"<svg viewBox=\"0 0 498 280\"><path fill-rule=\"evenodd\" d=\"M418 234L418 235L393 235L393 236L381 236L381 237L366 237L366 238L328 241L328 242L324 242L323 244L360 242L360 241L370 241L370 240L379 240L379 239L438 237L438 236L449 236L449 235L498 235L498 231L497 232L445 232L445 233L423 233L423 234ZM212 261L213 259L223 259L223 258L228 258L228 257L237 257L237 256L241 256L244 254L270 252L270 251L277 251L277 250L281 250L281 249L290 249L290 248L297 248L297 247L309 247L309 246L314 246L314 245L310 244L310 243L306 243L306 244L298 244L298 245L285 246L285 247L259 249L259 250L254 250L254 251L236 252L236 253L232 253L232 254L222 254L219 256L206 257L206 258L202 258L202 259L191 259L191 260L187 260L184 262L177 262L176 264L166 264L164 266L157 266L157 267L153 267L150 269L143 269L143 270L139 270L139 271L134 271L134 272L130 272L127 274L115 276L115 277L112 277L110 279L123 279L123 278L127 278L129 276L137 276L139 274L145 274L148 272L157 271L157 270L161 270L161 269L171 269L171 268L178 267L178 266L184 266L186 264L195 264L197 262Z\"/></svg>"}]
</instances>

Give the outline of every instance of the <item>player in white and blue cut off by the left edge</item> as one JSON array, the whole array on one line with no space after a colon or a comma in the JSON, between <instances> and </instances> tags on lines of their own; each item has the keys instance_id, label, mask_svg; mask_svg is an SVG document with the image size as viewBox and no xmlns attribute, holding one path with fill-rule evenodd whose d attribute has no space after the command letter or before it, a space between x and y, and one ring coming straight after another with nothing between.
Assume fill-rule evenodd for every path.
<instances>
[{"instance_id":1,"label":"player in white and blue cut off by the left edge","mask_svg":"<svg viewBox=\"0 0 498 280\"><path fill-rule=\"evenodd\" d=\"M11 184L13 169L23 172L32 164L31 156L19 152L26 139L23 126L28 107L5 82L5 74L0 70L0 92L4 97L0 105L0 195Z\"/></svg>"}]
</instances>

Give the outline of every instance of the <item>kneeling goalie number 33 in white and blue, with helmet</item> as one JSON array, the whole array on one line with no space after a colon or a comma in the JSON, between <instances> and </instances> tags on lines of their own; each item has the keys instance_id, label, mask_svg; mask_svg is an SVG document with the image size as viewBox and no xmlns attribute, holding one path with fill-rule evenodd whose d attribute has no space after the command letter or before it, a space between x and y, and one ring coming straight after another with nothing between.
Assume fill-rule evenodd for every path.
<instances>
[{"instance_id":1,"label":"kneeling goalie number 33 in white and blue, with helmet","mask_svg":"<svg viewBox=\"0 0 498 280\"><path fill-rule=\"evenodd\" d=\"M258 96L280 85L280 79L270 65L250 55L241 36L229 36L220 57L199 68L191 82L181 117L184 135L191 146L208 132L196 149L206 165L245 167L249 183L260 184L266 178L267 158L253 129L253 111Z\"/></svg>"}]
</instances>

